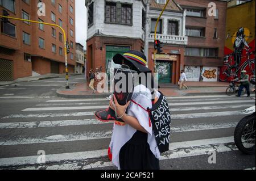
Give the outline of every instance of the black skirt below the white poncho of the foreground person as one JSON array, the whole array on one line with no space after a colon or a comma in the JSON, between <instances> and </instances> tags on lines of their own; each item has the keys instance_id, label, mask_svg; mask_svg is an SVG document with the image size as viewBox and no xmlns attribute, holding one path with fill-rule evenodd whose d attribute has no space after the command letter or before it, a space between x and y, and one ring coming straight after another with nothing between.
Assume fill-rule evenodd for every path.
<instances>
[{"instance_id":1,"label":"black skirt below the white poncho of the foreground person","mask_svg":"<svg viewBox=\"0 0 256 181\"><path fill-rule=\"evenodd\" d=\"M121 170L159 170L159 159L150 150L147 133L137 131L119 153Z\"/></svg>"}]
</instances>

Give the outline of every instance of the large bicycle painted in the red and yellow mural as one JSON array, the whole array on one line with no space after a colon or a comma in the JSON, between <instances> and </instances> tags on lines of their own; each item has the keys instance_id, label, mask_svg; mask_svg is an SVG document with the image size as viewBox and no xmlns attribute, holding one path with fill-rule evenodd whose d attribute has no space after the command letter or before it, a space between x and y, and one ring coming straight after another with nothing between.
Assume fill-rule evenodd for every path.
<instances>
[{"instance_id":1,"label":"large bicycle painted in the red and yellow mural","mask_svg":"<svg viewBox=\"0 0 256 181\"><path fill-rule=\"evenodd\" d=\"M249 74L255 74L255 58L251 58L250 56L252 54L255 54L255 50L253 50L252 52L249 52L250 48L243 48L246 50L246 56L241 57L242 58L246 58L246 61L243 62L242 65L238 66L238 68L235 66L236 64L232 64L233 63L233 53L232 54L228 54L224 57L224 65L221 68L221 72L222 72L222 77L220 77L220 81L225 82L228 78L237 78L238 72L242 70L245 70L247 66L249 66L249 70L247 71Z\"/></svg>"}]
</instances>

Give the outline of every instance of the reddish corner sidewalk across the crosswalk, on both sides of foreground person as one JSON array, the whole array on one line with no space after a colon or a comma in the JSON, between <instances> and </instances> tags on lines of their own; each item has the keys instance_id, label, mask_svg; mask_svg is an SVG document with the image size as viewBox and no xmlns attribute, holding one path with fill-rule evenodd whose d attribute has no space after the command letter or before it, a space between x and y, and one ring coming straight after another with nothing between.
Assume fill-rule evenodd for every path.
<instances>
[{"instance_id":1,"label":"reddish corner sidewalk across the crosswalk, on both sides of foreground person","mask_svg":"<svg viewBox=\"0 0 256 181\"><path fill-rule=\"evenodd\" d=\"M225 94L226 87L229 86L227 82L186 82L189 87L187 90L179 90L176 85L162 86L159 90L166 96L185 96L185 95L220 95ZM161 87L161 85L160 85ZM88 87L88 83L77 83L71 86L71 89L61 87L57 90L57 95L62 98L106 98L110 93L92 94L92 90Z\"/></svg>"}]
</instances>

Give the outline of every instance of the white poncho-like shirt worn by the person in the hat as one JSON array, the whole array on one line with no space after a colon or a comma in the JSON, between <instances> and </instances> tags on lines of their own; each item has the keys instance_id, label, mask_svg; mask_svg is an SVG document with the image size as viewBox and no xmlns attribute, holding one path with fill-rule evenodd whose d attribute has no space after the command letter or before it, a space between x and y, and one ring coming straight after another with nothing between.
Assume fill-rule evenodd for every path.
<instances>
[{"instance_id":1,"label":"white poncho-like shirt worn by the person in the hat","mask_svg":"<svg viewBox=\"0 0 256 181\"><path fill-rule=\"evenodd\" d=\"M156 96L160 96L160 93L156 91ZM152 108L151 102L151 93L150 90L147 89L144 85L138 85L134 87L133 98L136 103L140 104L143 108ZM139 124L148 132L147 134L147 142L150 145L150 150L155 155L156 158L160 158L160 151L158 146L156 145L155 134L152 131L152 123L151 127L149 125L149 116L148 112L144 111L141 107L133 102L130 103L128 109L128 115L136 117L139 121ZM133 134L137 132L136 129L131 127L129 124L124 126L115 125L113 127L112 139L110 142L110 148L112 148L112 162L115 166L120 169L119 164L119 152L123 145L126 144L127 141L133 137Z\"/></svg>"}]
</instances>

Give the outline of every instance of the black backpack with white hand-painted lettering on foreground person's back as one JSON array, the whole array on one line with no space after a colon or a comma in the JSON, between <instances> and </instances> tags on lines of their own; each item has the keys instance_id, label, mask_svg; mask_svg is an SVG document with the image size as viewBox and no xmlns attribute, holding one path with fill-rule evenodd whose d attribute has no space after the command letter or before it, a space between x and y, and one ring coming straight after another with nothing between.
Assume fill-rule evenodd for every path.
<instances>
[{"instance_id":1,"label":"black backpack with white hand-painted lettering on foreground person's back","mask_svg":"<svg viewBox=\"0 0 256 181\"><path fill-rule=\"evenodd\" d=\"M160 92L160 91L159 91ZM160 92L160 97L156 103L152 105L152 108L143 108L138 103L131 100L131 102L137 104L143 110L147 111L150 116L149 124L152 123L153 131L155 133L156 144L160 153L169 150L170 144L170 132L171 132L171 113L165 96Z\"/></svg>"}]
</instances>

